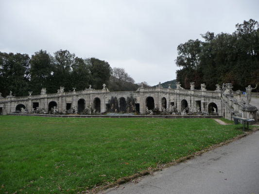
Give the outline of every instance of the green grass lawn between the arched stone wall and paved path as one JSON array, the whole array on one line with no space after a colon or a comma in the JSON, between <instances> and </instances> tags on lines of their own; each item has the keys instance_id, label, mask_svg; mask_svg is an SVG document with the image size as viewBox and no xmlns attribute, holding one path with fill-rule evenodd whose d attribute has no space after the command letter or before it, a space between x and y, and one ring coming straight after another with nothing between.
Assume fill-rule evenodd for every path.
<instances>
[{"instance_id":1,"label":"green grass lawn between the arched stone wall and paved path","mask_svg":"<svg viewBox=\"0 0 259 194\"><path fill-rule=\"evenodd\" d=\"M0 193L75 193L242 134L207 118L0 116Z\"/></svg>"}]
</instances>

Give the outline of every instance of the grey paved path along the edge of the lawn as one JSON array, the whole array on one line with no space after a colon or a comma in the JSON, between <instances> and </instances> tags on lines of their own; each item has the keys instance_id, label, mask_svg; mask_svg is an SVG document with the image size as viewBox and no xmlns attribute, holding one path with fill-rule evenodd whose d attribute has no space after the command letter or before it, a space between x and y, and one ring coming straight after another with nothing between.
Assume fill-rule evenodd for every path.
<instances>
[{"instance_id":1,"label":"grey paved path along the edge of the lawn","mask_svg":"<svg viewBox=\"0 0 259 194\"><path fill-rule=\"evenodd\" d=\"M102 194L259 194L259 131Z\"/></svg>"}]
</instances>

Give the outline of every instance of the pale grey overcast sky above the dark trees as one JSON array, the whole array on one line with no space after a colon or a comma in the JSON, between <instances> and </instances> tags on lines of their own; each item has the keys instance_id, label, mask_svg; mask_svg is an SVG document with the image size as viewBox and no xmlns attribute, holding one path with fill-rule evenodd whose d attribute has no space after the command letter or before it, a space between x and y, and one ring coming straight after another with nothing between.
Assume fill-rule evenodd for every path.
<instances>
[{"instance_id":1,"label":"pale grey overcast sky above the dark trees","mask_svg":"<svg viewBox=\"0 0 259 194\"><path fill-rule=\"evenodd\" d=\"M67 49L136 81L175 79L177 46L259 21L259 0L0 0L0 51Z\"/></svg>"}]
</instances>

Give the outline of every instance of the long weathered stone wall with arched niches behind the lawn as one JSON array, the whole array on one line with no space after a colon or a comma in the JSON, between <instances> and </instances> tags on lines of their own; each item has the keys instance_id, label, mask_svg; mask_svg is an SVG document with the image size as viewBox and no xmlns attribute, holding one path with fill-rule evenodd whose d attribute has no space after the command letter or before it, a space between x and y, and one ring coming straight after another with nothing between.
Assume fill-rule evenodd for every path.
<instances>
[{"instance_id":1,"label":"long weathered stone wall with arched niches behind the lawn","mask_svg":"<svg viewBox=\"0 0 259 194\"><path fill-rule=\"evenodd\" d=\"M45 109L49 111L50 102L55 102L59 112L66 110L68 105L78 108L78 101L84 103L84 107L94 106L95 102L100 99L100 113L107 112L107 107L111 103L111 99L117 99L118 107L120 109L120 98L122 101L125 99L134 99L134 103L139 106L139 113L146 113L147 99L154 100L154 106L162 108L162 100L164 106L167 108L171 104L177 109L178 112L183 111L183 106L189 108L200 106L201 112L209 112L209 107L214 107L218 115L222 115L225 118L232 120L233 113L241 113L243 117L253 117L256 119L257 109L251 109L246 107L241 101L238 101L234 97L223 95L221 90L207 91L206 86L203 85L201 90L185 90L181 87L178 89L171 88L144 88L140 87L137 91L127 92L110 92L108 89L93 90L86 89L84 91L73 92L59 92L55 94L42 94L27 97L10 97L0 98L0 113L14 113L16 107L19 104L23 104L26 109L31 112L33 110L34 103L39 105L39 109ZM123 99L124 98L124 99ZM97 101L96 101L97 100ZM35 107L34 107L35 108ZM94 108L94 107L93 107ZM120 109L121 110L121 109ZM255 111L256 110L256 111ZM119 112L119 110L117 110Z\"/></svg>"}]
</instances>

